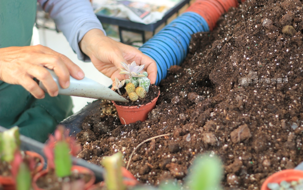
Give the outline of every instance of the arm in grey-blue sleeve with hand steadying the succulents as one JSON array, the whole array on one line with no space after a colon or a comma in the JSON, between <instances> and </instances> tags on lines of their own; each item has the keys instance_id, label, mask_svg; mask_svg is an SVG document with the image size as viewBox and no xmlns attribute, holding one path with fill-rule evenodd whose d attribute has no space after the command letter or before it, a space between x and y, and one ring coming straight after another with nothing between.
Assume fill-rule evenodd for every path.
<instances>
[{"instance_id":1,"label":"arm in grey-blue sleeve with hand steadying the succulents","mask_svg":"<svg viewBox=\"0 0 303 190\"><path fill-rule=\"evenodd\" d=\"M120 62L145 65L148 78L155 83L157 66L153 59L138 49L108 38L87 0L39 0L45 11L55 20L80 60L89 61L110 77L121 79ZM81 48L80 48L81 47ZM81 50L80 50L81 49Z\"/></svg>"}]
</instances>

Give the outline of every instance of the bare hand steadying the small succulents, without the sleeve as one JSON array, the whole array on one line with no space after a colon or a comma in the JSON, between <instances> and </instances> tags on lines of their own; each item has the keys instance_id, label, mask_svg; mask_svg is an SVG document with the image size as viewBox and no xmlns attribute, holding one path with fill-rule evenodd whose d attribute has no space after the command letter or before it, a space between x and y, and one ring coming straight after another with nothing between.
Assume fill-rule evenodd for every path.
<instances>
[{"instance_id":1,"label":"bare hand steadying the small succulents, without the sleeve","mask_svg":"<svg viewBox=\"0 0 303 190\"><path fill-rule=\"evenodd\" d=\"M152 58L130 45L116 42L105 36L99 29L88 31L80 41L79 46L82 52L91 58L95 67L104 75L110 77L113 82L115 82L115 77L120 81L126 79L125 75L119 75L119 68L122 68L120 62L130 64L133 61L137 65L145 65L142 71L148 73L151 84L156 82L157 65Z\"/></svg>"}]
</instances>

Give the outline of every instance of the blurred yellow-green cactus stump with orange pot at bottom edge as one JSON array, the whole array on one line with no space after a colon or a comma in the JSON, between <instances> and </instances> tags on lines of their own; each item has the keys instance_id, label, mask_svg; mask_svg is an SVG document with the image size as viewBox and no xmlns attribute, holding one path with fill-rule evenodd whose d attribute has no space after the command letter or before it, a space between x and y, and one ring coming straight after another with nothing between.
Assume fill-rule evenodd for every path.
<instances>
[{"instance_id":1,"label":"blurred yellow-green cactus stump with orange pot at bottom edge","mask_svg":"<svg viewBox=\"0 0 303 190\"><path fill-rule=\"evenodd\" d=\"M89 190L125 190L138 184L132 173L122 167L121 152L103 157L100 163L105 168L104 182L92 186Z\"/></svg>"}]
</instances>

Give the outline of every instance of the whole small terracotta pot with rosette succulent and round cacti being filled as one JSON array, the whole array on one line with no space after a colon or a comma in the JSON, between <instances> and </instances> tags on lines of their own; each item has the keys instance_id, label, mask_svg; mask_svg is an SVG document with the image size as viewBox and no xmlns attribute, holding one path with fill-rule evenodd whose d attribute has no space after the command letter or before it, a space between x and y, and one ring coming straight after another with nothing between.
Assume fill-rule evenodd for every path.
<instances>
[{"instance_id":1,"label":"whole small terracotta pot with rosette succulent and round cacti being filled","mask_svg":"<svg viewBox=\"0 0 303 190\"><path fill-rule=\"evenodd\" d=\"M120 68L119 74L129 77L121 82L115 78L113 88L130 102L112 102L122 124L134 123L139 120L143 122L148 118L148 113L156 106L160 95L159 88L150 84L147 72L140 73L145 65L137 66L136 62L128 65L121 62L121 65L123 68Z\"/></svg>"}]
</instances>

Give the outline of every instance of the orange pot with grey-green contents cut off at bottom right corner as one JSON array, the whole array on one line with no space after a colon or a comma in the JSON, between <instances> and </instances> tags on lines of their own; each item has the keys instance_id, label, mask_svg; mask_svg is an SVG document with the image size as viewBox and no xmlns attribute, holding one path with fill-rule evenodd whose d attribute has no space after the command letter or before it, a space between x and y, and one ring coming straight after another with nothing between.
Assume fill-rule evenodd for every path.
<instances>
[{"instance_id":1,"label":"orange pot with grey-green contents cut off at bottom right corner","mask_svg":"<svg viewBox=\"0 0 303 190\"><path fill-rule=\"evenodd\" d=\"M303 189L303 171L286 169L270 175L261 190ZM284 188L285 187L285 188Z\"/></svg>"}]
</instances>

